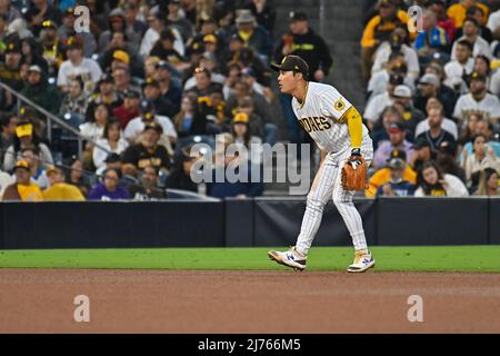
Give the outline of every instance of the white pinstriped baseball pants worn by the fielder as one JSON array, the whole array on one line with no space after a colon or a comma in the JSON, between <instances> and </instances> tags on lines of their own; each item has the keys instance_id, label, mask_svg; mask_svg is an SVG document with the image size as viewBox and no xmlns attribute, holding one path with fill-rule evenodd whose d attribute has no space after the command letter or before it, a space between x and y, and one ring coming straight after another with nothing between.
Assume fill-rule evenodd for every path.
<instances>
[{"instance_id":1,"label":"white pinstriped baseball pants worn by the fielder","mask_svg":"<svg viewBox=\"0 0 500 356\"><path fill-rule=\"evenodd\" d=\"M362 148L361 151L367 165L370 166L373 157L372 149L368 148L367 150L363 150ZM349 234L351 235L354 249L367 249L367 239L364 237L361 216L352 202L354 191L344 190L341 184L341 169L349 155L350 152L344 152L343 155L328 155L316 174L311 190L308 194L306 212L296 245L297 250L301 254L308 254L316 233L321 224L324 205L329 199L333 200L333 204L342 216Z\"/></svg>"}]
</instances>

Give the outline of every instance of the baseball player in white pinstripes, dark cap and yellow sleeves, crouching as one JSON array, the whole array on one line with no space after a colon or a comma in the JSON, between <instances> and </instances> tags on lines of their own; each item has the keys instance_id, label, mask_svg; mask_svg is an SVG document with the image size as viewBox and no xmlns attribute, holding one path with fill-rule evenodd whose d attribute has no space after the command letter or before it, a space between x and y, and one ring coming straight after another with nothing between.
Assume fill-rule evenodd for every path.
<instances>
[{"instance_id":1,"label":"baseball player in white pinstripes, dark cap and yellow sleeves, crouching","mask_svg":"<svg viewBox=\"0 0 500 356\"><path fill-rule=\"evenodd\" d=\"M281 65L271 67L279 71L280 91L293 97L292 108L300 125L321 149L321 165L307 197L296 246L283 253L269 251L268 256L296 270L306 269L308 251L320 226L324 205L332 199L354 245L354 261L347 270L366 271L374 266L374 259L367 247L361 216L352 202L354 190L349 190L344 172L349 166L350 172L361 172L366 177L367 166L373 157L368 129L358 110L336 88L309 81L308 63L300 57L287 56ZM362 187L364 185L362 181Z\"/></svg>"}]
</instances>

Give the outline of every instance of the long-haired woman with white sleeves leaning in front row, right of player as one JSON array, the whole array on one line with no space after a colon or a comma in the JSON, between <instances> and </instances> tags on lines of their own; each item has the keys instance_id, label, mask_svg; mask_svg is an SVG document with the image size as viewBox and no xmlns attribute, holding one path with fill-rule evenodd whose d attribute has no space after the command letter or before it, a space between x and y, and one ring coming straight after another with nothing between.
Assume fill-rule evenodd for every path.
<instances>
[{"instance_id":1,"label":"long-haired woman with white sleeves leaning in front row, right of player","mask_svg":"<svg viewBox=\"0 0 500 356\"><path fill-rule=\"evenodd\" d=\"M441 168L434 161L423 164L418 174L418 188L414 192L416 197L467 197L467 191L463 182L452 176L442 174Z\"/></svg>"}]
</instances>

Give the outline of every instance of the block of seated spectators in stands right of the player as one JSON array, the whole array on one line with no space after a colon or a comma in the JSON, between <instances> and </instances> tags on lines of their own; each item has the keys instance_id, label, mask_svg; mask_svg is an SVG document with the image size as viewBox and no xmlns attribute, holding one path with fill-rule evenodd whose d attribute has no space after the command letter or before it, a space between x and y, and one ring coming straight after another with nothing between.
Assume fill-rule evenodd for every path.
<instances>
[{"instance_id":1,"label":"block of seated spectators in stands right of the player","mask_svg":"<svg viewBox=\"0 0 500 356\"><path fill-rule=\"evenodd\" d=\"M420 21L410 6L419 6ZM500 1L364 1L367 196L499 195Z\"/></svg>"}]
</instances>

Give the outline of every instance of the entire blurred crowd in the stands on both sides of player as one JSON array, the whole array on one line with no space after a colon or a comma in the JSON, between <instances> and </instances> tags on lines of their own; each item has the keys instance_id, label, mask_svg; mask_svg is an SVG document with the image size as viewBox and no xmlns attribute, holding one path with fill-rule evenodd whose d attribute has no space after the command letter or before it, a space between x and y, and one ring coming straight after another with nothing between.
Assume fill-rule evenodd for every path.
<instances>
[{"instance_id":1,"label":"entire blurred crowd in the stands on both sides of player","mask_svg":"<svg viewBox=\"0 0 500 356\"><path fill-rule=\"evenodd\" d=\"M80 4L89 32L76 31ZM367 196L498 195L499 8L363 0L363 119L376 149ZM311 144L269 63L299 55L324 82L342 68L306 12L287 16L283 34L271 0L0 0L3 200L266 194L262 182L194 184L207 154L189 152L252 147L213 168L244 165L250 177L262 144Z\"/></svg>"}]
</instances>

